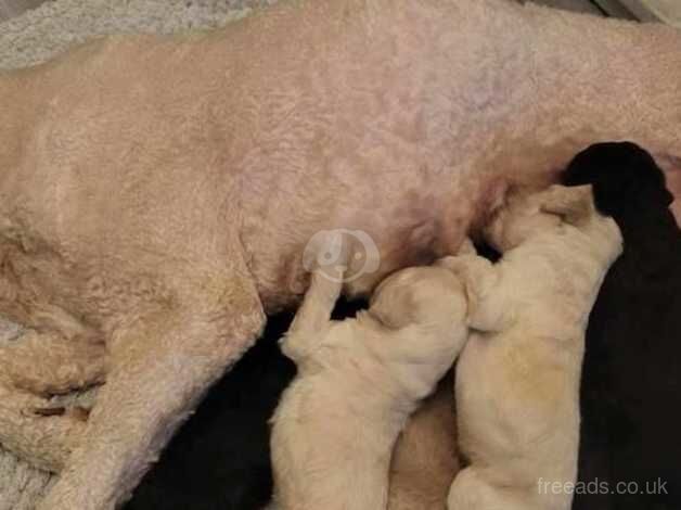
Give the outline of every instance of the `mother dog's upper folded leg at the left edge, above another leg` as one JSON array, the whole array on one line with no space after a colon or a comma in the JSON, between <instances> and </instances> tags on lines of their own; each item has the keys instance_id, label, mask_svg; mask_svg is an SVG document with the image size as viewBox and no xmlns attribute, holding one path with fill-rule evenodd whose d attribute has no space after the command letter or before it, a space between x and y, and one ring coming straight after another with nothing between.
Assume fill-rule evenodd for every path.
<instances>
[{"instance_id":1,"label":"mother dog's upper folded leg at the left edge, above another leg","mask_svg":"<svg viewBox=\"0 0 681 510\"><path fill-rule=\"evenodd\" d=\"M104 382L108 356L103 341L65 337L53 331L26 331L0 348L2 379L36 395L57 395Z\"/></svg>"}]
</instances>

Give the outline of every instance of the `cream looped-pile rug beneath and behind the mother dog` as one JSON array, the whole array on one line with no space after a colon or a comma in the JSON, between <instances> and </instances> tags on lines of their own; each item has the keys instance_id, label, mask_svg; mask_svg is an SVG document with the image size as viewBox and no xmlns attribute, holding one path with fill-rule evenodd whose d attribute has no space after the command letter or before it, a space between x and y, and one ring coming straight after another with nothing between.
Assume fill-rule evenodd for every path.
<instances>
[{"instance_id":1,"label":"cream looped-pile rug beneath and behind the mother dog","mask_svg":"<svg viewBox=\"0 0 681 510\"><path fill-rule=\"evenodd\" d=\"M221 27L272 0L55 0L0 24L0 69L35 65L92 37ZM0 343L21 334L0 319ZM18 340L21 341L21 339ZM92 399L92 395L79 398ZM33 510L54 476L0 447L0 510Z\"/></svg>"}]
</instances>

